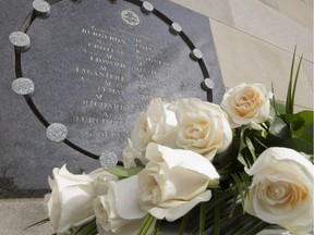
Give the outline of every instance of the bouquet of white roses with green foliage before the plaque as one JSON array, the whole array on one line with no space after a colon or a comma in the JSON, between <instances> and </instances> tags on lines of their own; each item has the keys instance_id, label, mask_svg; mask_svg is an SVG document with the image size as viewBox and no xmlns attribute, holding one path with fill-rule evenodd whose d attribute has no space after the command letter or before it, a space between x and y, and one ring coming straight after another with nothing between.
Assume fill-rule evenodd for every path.
<instances>
[{"instance_id":1,"label":"bouquet of white roses with green foliage before the plaque","mask_svg":"<svg viewBox=\"0 0 314 235\"><path fill-rule=\"evenodd\" d=\"M293 55L286 106L261 84L229 89L220 106L154 98L123 166L53 169L45 200L56 234L309 233L313 111L293 113L300 64L294 77Z\"/></svg>"}]
</instances>

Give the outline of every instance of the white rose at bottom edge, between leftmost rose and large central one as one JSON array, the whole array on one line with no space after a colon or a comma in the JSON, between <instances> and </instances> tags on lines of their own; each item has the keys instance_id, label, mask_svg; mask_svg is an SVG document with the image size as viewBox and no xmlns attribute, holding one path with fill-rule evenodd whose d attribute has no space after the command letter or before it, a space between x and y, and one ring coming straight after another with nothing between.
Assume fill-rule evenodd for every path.
<instances>
[{"instance_id":1,"label":"white rose at bottom edge, between leftmost rose and large central one","mask_svg":"<svg viewBox=\"0 0 314 235\"><path fill-rule=\"evenodd\" d=\"M137 177L109 182L107 185L107 193L94 201L99 234L136 234L146 214L138 203Z\"/></svg>"}]
</instances>

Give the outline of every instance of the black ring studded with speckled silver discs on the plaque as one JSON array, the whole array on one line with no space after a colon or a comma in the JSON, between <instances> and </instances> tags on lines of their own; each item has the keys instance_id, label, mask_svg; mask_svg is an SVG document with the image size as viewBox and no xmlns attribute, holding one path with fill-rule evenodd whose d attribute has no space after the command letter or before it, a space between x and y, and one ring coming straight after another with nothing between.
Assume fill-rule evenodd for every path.
<instances>
[{"instance_id":1,"label":"black ring studded with speckled silver discs on the plaque","mask_svg":"<svg viewBox=\"0 0 314 235\"><path fill-rule=\"evenodd\" d=\"M111 3L116 3L118 0L109 0ZM121 0L124 1L124 0ZM58 2L58 1L56 1ZM76 1L73 1L76 3ZM194 60L195 62L198 62L201 70L203 72L204 81L201 84L201 87L212 94L212 89L214 88L214 82L209 78L209 74L207 71L207 67L205 66L205 63L203 61L203 54L200 49L197 49L194 44L191 41L191 39L185 35L183 32L181 25L177 22L172 22L169 17L167 17L165 14L162 14L160 11L158 11L150 2L148 1L141 1L141 0L132 0L128 1L130 3L133 3L135 5L138 5L143 13L145 14L153 14L157 17L159 17L161 21L166 22L169 25L169 32L173 36L180 36L188 47L191 49L190 58ZM80 2L78 2L80 3ZM50 14L50 4L44 0L34 0L33 1L33 16L45 18L48 17ZM22 52L25 52L31 47L31 39L28 35L25 33L27 32L28 27L32 24L32 20L26 18L25 23L23 24L23 27L20 32L13 32L9 36L10 42L14 46L15 51L15 59L16 57L21 57ZM26 25L26 26L25 26ZM16 60L15 60L16 61ZM202 63L201 63L202 62ZM20 70L16 70L16 66ZM17 72L16 72L17 71ZM100 165L104 168L112 168L117 165L118 157L114 152L111 151L105 151L100 154L95 154L93 152L89 152L77 145L71 143L69 139L67 139L68 136L68 128L61 123L52 123L50 124L46 119L40 114L39 110L37 110L36 106L34 104L32 100L32 95L35 90L35 85L31 78L26 78L22 76L22 65L21 60L20 64L15 64L15 75L16 79L12 83L12 89L17 95L24 96L29 107L32 107L33 112L36 114L36 116L39 119L39 121L47 127L46 129L46 136L52 141L63 141L68 146L72 147L76 151L80 151L83 154L86 154L93 159L97 159L100 162ZM213 101L213 97L207 98L207 101Z\"/></svg>"}]
</instances>

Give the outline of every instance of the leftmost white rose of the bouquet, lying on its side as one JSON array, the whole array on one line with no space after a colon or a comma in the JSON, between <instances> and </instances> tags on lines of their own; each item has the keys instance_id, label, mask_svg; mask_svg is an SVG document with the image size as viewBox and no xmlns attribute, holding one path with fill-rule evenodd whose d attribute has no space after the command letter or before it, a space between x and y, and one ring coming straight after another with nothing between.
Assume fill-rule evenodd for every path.
<instances>
[{"instance_id":1,"label":"leftmost white rose of the bouquet, lying on its side","mask_svg":"<svg viewBox=\"0 0 314 235\"><path fill-rule=\"evenodd\" d=\"M99 169L90 174L72 174L65 165L55 168L49 177L51 194L45 196L48 217L57 233L80 226L93 220L93 201L96 198L95 181L109 174Z\"/></svg>"}]
</instances>

